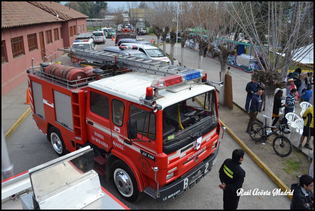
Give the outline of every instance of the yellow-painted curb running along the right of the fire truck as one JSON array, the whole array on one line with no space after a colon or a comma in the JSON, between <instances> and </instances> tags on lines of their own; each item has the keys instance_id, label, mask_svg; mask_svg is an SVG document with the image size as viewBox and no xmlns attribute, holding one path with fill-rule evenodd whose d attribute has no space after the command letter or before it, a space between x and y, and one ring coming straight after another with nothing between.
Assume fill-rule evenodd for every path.
<instances>
[{"instance_id":1,"label":"yellow-painted curb running along the right of the fire truck","mask_svg":"<svg viewBox=\"0 0 315 211\"><path fill-rule=\"evenodd\" d=\"M264 172L278 185L279 188L281 188L282 191L290 190L287 185L284 184L283 181L281 181L273 172L272 170L266 166L264 162L261 161L261 159L253 152L251 149L247 147L247 145L240 139L236 134L234 134L227 126L225 123L222 122L222 120L219 118L219 121L223 127L226 128L226 131L232 136L232 138L238 142L238 144L245 150L249 156L255 161L255 163L264 170ZM292 200L291 195L287 195L289 199Z\"/></svg>"}]
</instances>

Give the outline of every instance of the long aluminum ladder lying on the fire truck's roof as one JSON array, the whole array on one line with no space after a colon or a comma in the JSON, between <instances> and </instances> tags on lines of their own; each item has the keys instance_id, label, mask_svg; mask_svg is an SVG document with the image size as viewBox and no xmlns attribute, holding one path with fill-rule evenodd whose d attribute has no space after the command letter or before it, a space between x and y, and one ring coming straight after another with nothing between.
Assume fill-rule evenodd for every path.
<instances>
[{"instance_id":1,"label":"long aluminum ladder lying on the fire truck's roof","mask_svg":"<svg viewBox=\"0 0 315 211\"><path fill-rule=\"evenodd\" d=\"M165 64L160 60L153 60L149 58L136 57L124 54L110 53L106 51L94 50L94 49L76 49L58 48L58 51L63 51L72 54L72 56L81 58L88 61L99 62L101 64L115 62L115 56L118 66L123 68L128 68L133 71L150 73L159 76L170 76L174 74L179 74L186 71L193 71L194 69L179 67L175 65Z\"/></svg>"}]
</instances>

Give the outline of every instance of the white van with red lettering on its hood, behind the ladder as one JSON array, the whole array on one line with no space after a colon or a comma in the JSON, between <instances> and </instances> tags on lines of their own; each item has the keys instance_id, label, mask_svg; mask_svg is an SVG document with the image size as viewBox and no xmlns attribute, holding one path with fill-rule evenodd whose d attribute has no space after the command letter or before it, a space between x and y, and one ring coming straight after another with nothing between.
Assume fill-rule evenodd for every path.
<instances>
[{"instance_id":1,"label":"white van with red lettering on its hood, behind the ladder","mask_svg":"<svg viewBox=\"0 0 315 211\"><path fill-rule=\"evenodd\" d=\"M135 45L139 51L145 53L150 59L165 61L166 64L171 65L171 60L157 47L140 43L122 43L120 46L127 45Z\"/></svg>"}]
</instances>

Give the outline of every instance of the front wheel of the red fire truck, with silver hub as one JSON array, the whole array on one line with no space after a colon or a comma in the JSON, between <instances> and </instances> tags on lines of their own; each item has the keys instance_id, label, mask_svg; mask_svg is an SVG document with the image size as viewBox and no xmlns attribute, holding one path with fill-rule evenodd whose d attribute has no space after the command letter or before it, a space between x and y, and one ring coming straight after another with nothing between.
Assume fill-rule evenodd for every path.
<instances>
[{"instance_id":1,"label":"front wheel of the red fire truck, with silver hub","mask_svg":"<svg viewBox=\"0 0 315 211\"><path fill-rule=\"evenodd\" d=\"M143 196L138 189L137 181L129 166L118 159L112 163L111 167L112 182L116 191L128 202L136 202Z\"/></svg>"}]
</instances>

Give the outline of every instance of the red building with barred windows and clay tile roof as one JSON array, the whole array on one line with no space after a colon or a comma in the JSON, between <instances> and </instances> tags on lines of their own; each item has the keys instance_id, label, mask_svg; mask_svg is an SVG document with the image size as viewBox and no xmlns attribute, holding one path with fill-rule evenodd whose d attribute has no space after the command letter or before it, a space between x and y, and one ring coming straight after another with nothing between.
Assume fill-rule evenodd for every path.
<instances>
[{"instance_id":1,"label":"red building with barred windows and clay tile roof","mask_svg":"<svg viewBox=\"0 0 315 211\"><path fill-rule=\"evenodd\" d=\"M1 2L1 96L26 80L32 58L34 66L54 61L57 48L87 32L86 18L55 2Z\"/></svg>"}]
</instances>

